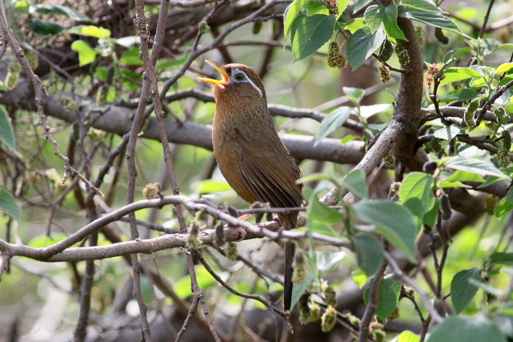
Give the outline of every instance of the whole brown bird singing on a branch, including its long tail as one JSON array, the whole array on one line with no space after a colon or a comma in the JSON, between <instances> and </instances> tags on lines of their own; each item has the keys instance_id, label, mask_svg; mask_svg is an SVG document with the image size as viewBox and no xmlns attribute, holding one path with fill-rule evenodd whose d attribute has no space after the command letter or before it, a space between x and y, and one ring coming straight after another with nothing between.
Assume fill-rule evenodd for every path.
<instances>
[{"instance_id":1,"label":"whole brown bird singing on a branch, including its long tail","mask_svg":"<svg viewBox=\"0 0 513 342\"><path fill-rule=\"evenodd\" d=\"M274 127L262 80L242 64L221 65L207 60L222 80L198 78L212 83L215 113L212 142L221 173L246 202L268 202L273 208L303 204L298 165L283 145ZM279 213L286 230L296 227L298 213ZM285 243L283 306L290 310L294 244Z\"/></svg>"}]
</instances>

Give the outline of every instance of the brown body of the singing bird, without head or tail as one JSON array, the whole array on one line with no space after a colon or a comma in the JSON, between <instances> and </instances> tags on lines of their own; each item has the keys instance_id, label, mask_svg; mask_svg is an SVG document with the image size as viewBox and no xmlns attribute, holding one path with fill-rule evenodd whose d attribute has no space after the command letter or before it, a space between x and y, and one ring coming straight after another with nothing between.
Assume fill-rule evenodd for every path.
<instances>
[{"instance_id":1,"label":"brown body of the singing bird, without head or tail","mask_svg":"<svg viewBox=\"0 0 513 342\"><path fill-rule=\"evenodd\" d=\"M217 99L212 141L225 179L246 202L294 207L303 202L300 170L274 128L267 106L241 101L226 108ZM237 110L239 109L239 110Z\"/></svg>"}]
</instances>

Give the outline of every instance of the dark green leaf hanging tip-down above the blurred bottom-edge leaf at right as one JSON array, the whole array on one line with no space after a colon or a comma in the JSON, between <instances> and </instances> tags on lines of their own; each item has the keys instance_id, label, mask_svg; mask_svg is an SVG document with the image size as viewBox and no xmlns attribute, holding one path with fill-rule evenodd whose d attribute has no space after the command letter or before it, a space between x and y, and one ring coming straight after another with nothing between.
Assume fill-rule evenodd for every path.
<instances>
[{"instance_id":1,"label":"dark green leaf hanging tip-down above the blurred bottom-edge leaf at right","mask_svg":"<svg viewBox=\"0 0 513 342\"><path fill-rule=\"evenodd\" d=\"M450 297L456 313L465 310L479 290L479 287L468 282L469 279L481 282L479 268L474 267L459 271L452 277L450 282Z\"/></svg>"}]
</instances>

